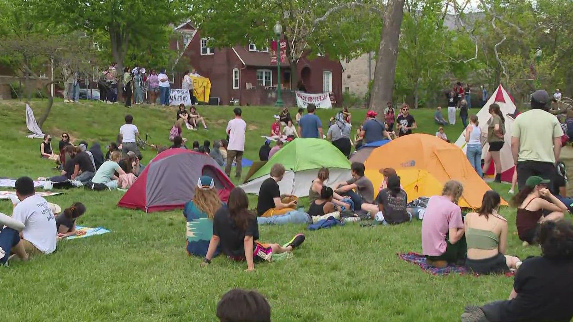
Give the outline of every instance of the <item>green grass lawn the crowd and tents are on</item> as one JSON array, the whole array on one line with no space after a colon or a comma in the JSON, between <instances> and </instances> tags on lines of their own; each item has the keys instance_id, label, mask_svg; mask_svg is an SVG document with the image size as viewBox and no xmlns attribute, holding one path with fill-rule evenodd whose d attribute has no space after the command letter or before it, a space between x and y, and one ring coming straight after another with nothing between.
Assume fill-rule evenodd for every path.
<instances>
[{"instance_id":1,"label":"green grass lawn the crowd and tents are on","mask_svg":"<svg viewBox=\"0 0 573 322\"><path fill-rule=\"evenodd\" d=\"M44 103L33 101L37 117ZM0 101L0 176L55 175L48 160L38 158L40 140L25 137L25 104ZM209 131L184 130L190 142L225 137L233 107L199 107ZM354 109L353 125L366 110ZM433 110L415 110L419 130L433 134ZM477 112L477 109L470 110ZM175 108L101 103L54 104L44 125L53 146L62 131L72 138L115 141L125 113L134 116L150 142L168 144ZM248 124L245 158L258 159L258 148L270 132L276 108L244 107ZM294 117L296 111L291 111ZM334 111L318 111L326 127ZM356 128L356 127L354 127ZM461 121L446 128L453 141ZM154 156L144 151L144 163ZM246 170L244 171L244 175ZM507 198L508 184L493 186ZM472 189L472 187L466 187ZM224 257L199 268L199 258L185 251L185 219L181 211L146 214L118 208L119 191L67 190L47 197L62 208L83 202L88 210L78 220L112 233L62 241L57 252L0 270L2 321L215 321L215 305L231 288L257 289L270 301L273 321L456 321L466 303L507 298L513 279L500 276L431 276L398 259L397 253L421 252L421 222L392 227L344 227L305 231L304 225L261 226L262 242L285 242L305 231L307 241L291 261L260 264L246 273L246 264ZM252 197L254 202L256 198ZM308 204L308 202L304 202ZM252 207L256 205L251 205ZM11 203L0 211L11 214ZM521 258L539 254L523 248L515 233L515 209L501 212L510 223L508 254Z\"/></svg>"}]
</instances>

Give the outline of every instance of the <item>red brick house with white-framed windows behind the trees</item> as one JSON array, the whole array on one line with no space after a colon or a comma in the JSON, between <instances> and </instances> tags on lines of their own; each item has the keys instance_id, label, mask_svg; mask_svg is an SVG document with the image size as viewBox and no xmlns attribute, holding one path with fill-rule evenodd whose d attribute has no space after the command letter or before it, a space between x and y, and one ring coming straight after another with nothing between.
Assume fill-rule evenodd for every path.
<instances>
[{"instance_id":1,"label":"red brick house with white-framed windows behind the trees","mask_svg":"<svg viewBox=\"0 0 573 322\"><path fill-rule=\"evenodd\" d=\"M211 99L219 104L237 101L240 105L273 105L277 95L277 66L270 63L268 48L256 45L212 48L208 39L190 22L175 28L182 36L172 42L171 48L180 52L179 61L193 66L201 76L211 81ZM314 59L300 58L297 63L299 79L308 93L331 92L334 102L342 101L342 64L328 56ZM294 106L289 62L281 62L281 88L285 106ZM175 74L174 87L180 88L182 73Z\"/></svg>"}]
</instances>

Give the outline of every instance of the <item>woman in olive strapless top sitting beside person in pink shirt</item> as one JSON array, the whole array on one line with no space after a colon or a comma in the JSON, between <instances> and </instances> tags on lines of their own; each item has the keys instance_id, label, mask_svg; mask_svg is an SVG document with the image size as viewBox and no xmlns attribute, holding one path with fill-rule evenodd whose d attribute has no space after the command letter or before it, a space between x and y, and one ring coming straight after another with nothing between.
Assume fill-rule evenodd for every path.
<instances>
[{"instance_id":1,"label":"woman in olive strapless top sitting beside person in pink shirt","mask_svg":"<svg viewBox=\"0 0 573 322\"><path fill-rule=\"evenodd\" d=\"M496 191L484 194L481 207L465 216L468 244L466 268L477 274L501 274L521 265L519 258L504 255L507 247L507 220L497 213L501 202Z\"/></svg>"}]
</instances>

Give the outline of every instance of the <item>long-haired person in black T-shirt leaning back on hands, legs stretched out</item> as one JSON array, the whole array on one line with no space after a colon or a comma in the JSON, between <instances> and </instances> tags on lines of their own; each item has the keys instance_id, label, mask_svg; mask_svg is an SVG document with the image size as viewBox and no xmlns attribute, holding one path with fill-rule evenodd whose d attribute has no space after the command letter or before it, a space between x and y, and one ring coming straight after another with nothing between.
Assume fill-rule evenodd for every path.
<instances>
[{"instance_id":1,"label":"long-haired person in black T-shirt leaning back on hands, legs stretched out","mask_svg":"<svg viewBox=\"0 0 573 322\"><path fill-rule=\"evenodd\" d=\"M233 188L228 206L222 206L213 219L213 236L201 266L211 259L221 244L223 254L236 261L246 261L247 271L254 270L254 260L269 261L272 254L291 252L303 244L304 234L296 234L286 247L258 242L257 217L249 212L249 198L244 190Z\"/></svg>"}]
</instances>

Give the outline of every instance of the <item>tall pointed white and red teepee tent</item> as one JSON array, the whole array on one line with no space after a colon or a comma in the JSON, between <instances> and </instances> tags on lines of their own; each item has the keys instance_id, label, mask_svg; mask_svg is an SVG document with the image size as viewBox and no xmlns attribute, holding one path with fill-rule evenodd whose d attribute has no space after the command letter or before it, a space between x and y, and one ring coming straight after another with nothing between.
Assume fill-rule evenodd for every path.
<instances>
[{"instance_id":1,"label":"tall pointed white and red teepee tent","mask_svg":"<svg viewBox=\"0 0 573 322\"><path fill-rule=\"evenodd\" d=\"M501 180L511 182L511 178L513 176L513 156L511 155L511 130L513 128L513 122L515 121L512 116L508 114L512 114L516 112L515 104L513 103L513 98L505 91L501 85L497 87L497 89L492 93L492 96L489 97L487 103L485 103L484 107L477 112L477 119L479 122L479 127L482 133L482 142L485 141L482 147L481 157L485 158L489 150L489 144L486 142L487 140L484 139L484 136L487 136L488 133L488 121L491 119L491 115L489 114L489 105L497 103L500 105L500 111L504 116L505 119L505 143L503 148L500 150L501 156ZM471 110L470 110L470 115ZM456 140L456 146L461 147L466 152L466 142L464 137L464 131L460 134L460 137ZM494 166L493 164L489 167L488 174L493 174Z\"/></svg>"}]
</instances>

